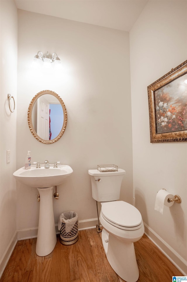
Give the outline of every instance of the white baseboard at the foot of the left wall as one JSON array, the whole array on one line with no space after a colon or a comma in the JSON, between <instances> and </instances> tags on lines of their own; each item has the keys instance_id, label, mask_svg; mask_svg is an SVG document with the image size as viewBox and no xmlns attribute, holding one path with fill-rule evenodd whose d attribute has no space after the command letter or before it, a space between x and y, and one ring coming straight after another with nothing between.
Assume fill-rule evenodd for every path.
<instances>
[{"instance_id":1,"label":"white baseboard at the foot of the left wall","mask_svg":"<svg viewBox=\"0 0 187 282\"><path fill-rule=\"evenodd\" d=\"M0 278L3 274L3 271L8 263L8 260L10 259L10 256L15 248L15 245L16 243L18 242L18 239L17 239L17 230L15 231L15 233L13 234L12 236L12 239L10 241L10 243L8 244L6 250L4 251L4 254L3 256L1 257L1 260L0 260Z\"/></svg>"}]
</instances>

